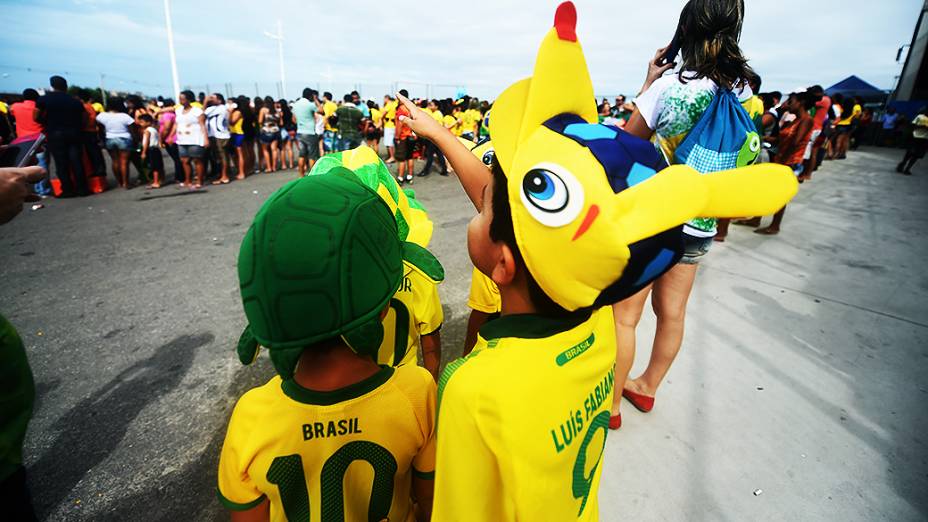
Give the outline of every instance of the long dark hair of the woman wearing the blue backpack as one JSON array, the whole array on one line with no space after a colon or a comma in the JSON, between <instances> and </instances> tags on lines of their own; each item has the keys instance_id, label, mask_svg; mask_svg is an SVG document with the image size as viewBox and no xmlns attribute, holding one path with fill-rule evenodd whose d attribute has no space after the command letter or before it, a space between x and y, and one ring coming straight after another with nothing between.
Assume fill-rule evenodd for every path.
<instances>
[{"instance_id":1,"label":"long dark hair of the woman wearing the blue backpack","mask_svg":"<svg viewBox=\"0 0 928 522\"><path fill-rule=\"evenodd\" d=\"M744 0L690 0L677 27L681 81L708 78L727 89L744 84L754 71L738 45L743 21Z\"/></svg>"}]
</instances>

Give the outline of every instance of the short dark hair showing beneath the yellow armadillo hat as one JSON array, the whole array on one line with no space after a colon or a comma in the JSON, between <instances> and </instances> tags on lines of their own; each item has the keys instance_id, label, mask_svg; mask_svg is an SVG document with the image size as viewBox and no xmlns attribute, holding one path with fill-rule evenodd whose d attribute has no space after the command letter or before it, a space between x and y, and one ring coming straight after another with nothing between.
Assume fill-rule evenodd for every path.
<instances>
[{"instance_id":1,"label":"short dark hair showing beneath the yellow armadillo hat","mask_svg":"<svg viewBox=\"0 0 928 522\"><path fill-rule=\"evenodd\" d=\"M509 207L506 175L503 174L503 169L496 158L493 158L491 171L493 173L493 194L490 196L492 198L490 205L493 209L493 221L490 223L490 239L502 241L512 250L516 266L525 274L528 296L539 315L564 316L569 314L570 312L561 308L545 294L544 290L538 286L535 278L532 277L532 274L529 273L528 267L525 266L525 260L522 258L522 253L516 244L516 234L512 228L512 209Z\"/></svg>"}]
</instances>

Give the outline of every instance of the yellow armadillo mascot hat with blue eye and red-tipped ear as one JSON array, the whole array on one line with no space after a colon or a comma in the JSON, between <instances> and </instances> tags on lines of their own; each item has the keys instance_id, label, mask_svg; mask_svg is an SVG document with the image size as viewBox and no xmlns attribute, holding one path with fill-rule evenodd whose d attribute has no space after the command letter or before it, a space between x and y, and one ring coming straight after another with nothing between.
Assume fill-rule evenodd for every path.
<instances>
[{"instance_id":1,"label":"yellow armadillo mascot hat with blue eye and red-tipped ear","mask_svg":"<svg viewBox=\"0 0 928 522\"><path fill-rule=\"evenodd\" d=\"M497 98L490 121L516 243L545 294L570 311L617 302L670 269L683 223L770 214L798 186L780 165L667 167L649 142L597 125L576 22L573 3L562 3L532 77Z\"/></svg>"}]
</instances>

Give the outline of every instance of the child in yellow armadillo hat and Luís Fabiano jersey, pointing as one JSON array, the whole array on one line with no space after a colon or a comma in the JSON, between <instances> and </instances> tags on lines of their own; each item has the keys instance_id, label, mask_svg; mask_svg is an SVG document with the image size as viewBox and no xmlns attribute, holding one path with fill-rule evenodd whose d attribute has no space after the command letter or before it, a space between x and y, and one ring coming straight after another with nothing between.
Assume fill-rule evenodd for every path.
<instances>
[{"instance_id":1,"label":"child in yellow armadillo hat and Lu\u00eds Fabiano jersey, pointing","mask_svg":"<svg viewBox=\"0 0 928 522\"><path fill-rule=\"evenodd\" d=\"M780 208L796 191L775 165L666 168L649 142L596 124L576 19L561 4L533 76L497 98L490 173L401 99L478 209L468 252L501 298L439 383L435 520L597 520L615 386L608 305L679 261L689 219Z\"/></svg>"}]
</instances>

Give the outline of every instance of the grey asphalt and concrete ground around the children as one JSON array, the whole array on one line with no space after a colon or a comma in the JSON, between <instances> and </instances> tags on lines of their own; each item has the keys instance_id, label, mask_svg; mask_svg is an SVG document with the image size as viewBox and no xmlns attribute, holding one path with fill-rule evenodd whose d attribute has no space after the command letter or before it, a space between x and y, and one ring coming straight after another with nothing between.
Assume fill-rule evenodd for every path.
<instances>
[{"instance_id":1,"label":"grey asphalt and concrete ground around the children","mask_svg":"<svg viewBox=\"0 0 928 522\"><path fill-rule=\"evenodd\" d=\"M928 169L892 173L897 155L826 164L780 236L733 227L713 249L656 408L626 403L609 436L603 520L928 517ZM293 176L48 201L0 228L0 310L38 388L26 453L43 519L226 518L226 422L272 372L233 355L235 257ZM472 209L454 178L414 188L448 273L447 361L463 342ZM653 325L646 314L636 370Z\"/></svg>"}]
</instances>

